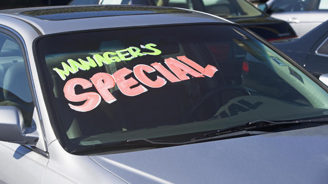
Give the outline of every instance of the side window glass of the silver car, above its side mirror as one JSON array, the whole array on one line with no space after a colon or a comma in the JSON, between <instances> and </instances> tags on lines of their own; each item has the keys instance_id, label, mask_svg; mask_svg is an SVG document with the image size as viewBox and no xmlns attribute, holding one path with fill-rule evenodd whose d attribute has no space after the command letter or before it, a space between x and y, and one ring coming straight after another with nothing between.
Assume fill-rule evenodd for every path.
<instances>
[{"instance_id":1,"label":"side window glass of the silver car, above its side mirror","mask_svg":"<svg viewBox=\"0 0 328 184\"><path fill-rule=\"evenodd\" d=\"M18 107L25 126L31 126L34 105L22 49L15 39L4 33L0 33L0 106Z\"/></svg>"}]
</instances>

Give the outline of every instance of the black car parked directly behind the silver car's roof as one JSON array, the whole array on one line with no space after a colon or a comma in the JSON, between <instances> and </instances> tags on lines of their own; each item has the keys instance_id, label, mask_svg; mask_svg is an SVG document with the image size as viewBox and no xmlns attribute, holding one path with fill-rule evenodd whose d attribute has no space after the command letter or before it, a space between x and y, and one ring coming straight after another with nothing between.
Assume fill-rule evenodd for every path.
<instances>
[{"instance_id":1,"label":"black car parked directly behind the silver car's roof","mask_svg":"<svg viewBox=\"0 0 328 184\"><path fill-rule=\"evenodd\" d=\"M245 0L219 0L215 2L211 0L75 0L72 1L70 5L85 5L91 3L101 5L141 4L185 8L210 13L234 21L249 28L268 41L297 37L288 22L270 17Z\"/></svg>"}]
</instances>

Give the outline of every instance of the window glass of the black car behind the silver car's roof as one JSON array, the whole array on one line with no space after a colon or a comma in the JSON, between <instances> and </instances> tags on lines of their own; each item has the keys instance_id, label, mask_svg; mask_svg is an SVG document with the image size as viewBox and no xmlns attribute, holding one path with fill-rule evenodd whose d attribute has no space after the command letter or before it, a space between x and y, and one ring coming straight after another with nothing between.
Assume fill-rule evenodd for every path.
<instances>
[{"instance_id":1,"label":"window glass of the black car behind the silver car's roof","mask_svg":"<svg viewBox=\"0 0 328 184\"><path fill-rule=\"evenodd\" d=\"M155 0L157 6L198 10L224 18L260 16L262 12L245 0Z\"/></svg>"}]
</instances>

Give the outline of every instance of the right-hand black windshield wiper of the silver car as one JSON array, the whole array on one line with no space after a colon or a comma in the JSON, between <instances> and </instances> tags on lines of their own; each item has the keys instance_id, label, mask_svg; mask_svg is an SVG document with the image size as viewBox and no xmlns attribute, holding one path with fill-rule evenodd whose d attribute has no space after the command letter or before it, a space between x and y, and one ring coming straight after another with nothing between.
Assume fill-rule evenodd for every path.
<instances>
[{"instance_id":1,"label":"right-hand black windshield wiper of the silver car","mask_svg":"<svg viewBox=\"0 0 328 184\"><path fill-rule=\"evenodd\" d=\"M270 133L270 132L263 132L263 131L248 131L248 130L258 130L262 128L269 128L274 126L285 126L285 125L299 125L302 123L328 123L328 118L317 118L317 119L309 119L309 120L290 120L290 121L268 121L268 120L256 120L252 122L248 122L245 124L239 124L234 125L227 128L218 129L209 133L205 133L199 136L194 137L191 139L191 141L196 141L203 139L205 137L212 137L215 138L218 135L224 135L224 134L230 134L238 131L247 131L247 132L253 132L253 134L249 135L255 135L257 132L258 134L263 133ZM215 136L215 137L214 137Z\"/></svg>"}]
</instances>

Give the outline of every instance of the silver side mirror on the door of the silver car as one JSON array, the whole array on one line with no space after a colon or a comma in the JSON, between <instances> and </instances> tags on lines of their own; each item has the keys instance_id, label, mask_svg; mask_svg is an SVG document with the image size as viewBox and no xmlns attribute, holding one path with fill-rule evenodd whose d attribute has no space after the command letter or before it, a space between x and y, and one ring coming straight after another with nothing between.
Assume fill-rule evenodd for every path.
<instances>
[{"instance_id":1,"label":"silver side mirror on the door of the silver car","mask_svg":"<svg viewBox=\"0 0 328 184\"><path fill-rule=\"evenodd\" d=\"M0 141L35 146L36 127L26 128L22 112L14 106L0 106Z\"/></svg>"}]
</instances>

